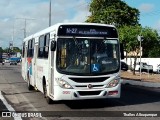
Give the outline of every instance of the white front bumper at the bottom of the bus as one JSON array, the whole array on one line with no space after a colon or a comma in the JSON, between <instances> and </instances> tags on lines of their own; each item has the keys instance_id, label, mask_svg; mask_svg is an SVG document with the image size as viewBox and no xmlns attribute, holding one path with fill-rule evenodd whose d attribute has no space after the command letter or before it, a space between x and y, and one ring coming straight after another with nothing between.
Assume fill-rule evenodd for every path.
<instances>
[{"instance_id":1,"label":"white front bumper at the bottom of the bus","mask_svg":"<svg viewBox=\"0 0 160 120\"><path fill-rule=\"evenodd\" d=\"M59 86L54 86L54 100L120 98L120 92L121 84L113 88L101 89L63 89Z\"/></svg>"}]
</instances>

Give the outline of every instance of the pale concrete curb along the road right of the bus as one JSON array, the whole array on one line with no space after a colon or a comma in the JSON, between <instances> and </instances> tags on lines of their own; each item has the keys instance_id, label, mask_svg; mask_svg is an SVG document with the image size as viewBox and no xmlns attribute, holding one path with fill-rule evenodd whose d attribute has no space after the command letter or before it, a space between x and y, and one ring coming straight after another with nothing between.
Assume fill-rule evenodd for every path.
<instances>
[{"instance_id":1,"label":"pale concrete curb along the road right of the bus","mask_svg":"<svg viewBox=\"0 0 160 120\"><path fill-rule=\"evenodd\" d=\"M156 82L153 83L153 82L126 80L126 79L121 79L121 80L122 80L122 84L131 84L131 85L144 86L144 87L160 88L160 83L156 83Z\"/></svg>"}]
</instances>

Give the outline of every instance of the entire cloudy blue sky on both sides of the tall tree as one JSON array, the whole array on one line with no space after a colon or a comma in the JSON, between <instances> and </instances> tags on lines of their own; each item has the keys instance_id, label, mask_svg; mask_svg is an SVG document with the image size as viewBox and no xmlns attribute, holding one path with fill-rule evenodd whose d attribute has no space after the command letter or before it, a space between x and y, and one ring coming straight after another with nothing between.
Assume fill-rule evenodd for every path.
<instances>
[{"instance_id":1,"label":"entire cloudy blue sky on both sides of the tall tree","mask_svg":"<svg viewBox=\"0 0 160 120\"><path fill-rule=\"evenodd\" d=\"M0 47L6 48L13 41L21 47L29 36L49 26L50 0L0 0ZM160 32L159 0L123 0L130 7L139 9L140 24ZM51 0L51 25L59 22L84 22L89 13L91 0Z\"/></svg>"}]
</instances>

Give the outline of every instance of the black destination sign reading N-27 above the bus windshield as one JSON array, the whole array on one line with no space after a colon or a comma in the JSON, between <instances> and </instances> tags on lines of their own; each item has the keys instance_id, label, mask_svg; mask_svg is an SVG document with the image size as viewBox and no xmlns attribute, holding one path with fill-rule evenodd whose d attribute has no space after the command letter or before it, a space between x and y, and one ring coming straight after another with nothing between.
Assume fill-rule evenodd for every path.
<instances>
[{"instance_id":1,"label":"black destination sign reading N-27 above the bus windshield","mask_svg":"<svg viewBox=\"0 0 160 120\"><path fill-rule=\"evenodd\" d=\"M81 37L110 37L117 38L115 28L95 25L62 25L58 30L59 36L81 36Z\"/></svg>"}]
</instances>

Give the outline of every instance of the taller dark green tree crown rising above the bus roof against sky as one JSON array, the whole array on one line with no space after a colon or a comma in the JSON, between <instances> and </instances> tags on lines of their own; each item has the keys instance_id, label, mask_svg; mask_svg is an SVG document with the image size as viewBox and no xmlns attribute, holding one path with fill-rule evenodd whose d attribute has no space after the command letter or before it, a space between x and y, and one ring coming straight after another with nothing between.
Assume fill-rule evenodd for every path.
<instances>
[{"instance_id":1,"label":"taller dark green tree crown rising above the bus roof against sky","mask_svg":"<svg viewBox=\"0 0 160 120\"><path fill-rule=\"evenodd\" d=\"M92 0L91 15L86 22L115 24L116 26L137 25L139 10L121 0Z\"/></svg>"}]
</instances>

